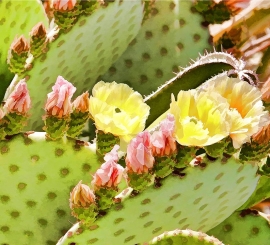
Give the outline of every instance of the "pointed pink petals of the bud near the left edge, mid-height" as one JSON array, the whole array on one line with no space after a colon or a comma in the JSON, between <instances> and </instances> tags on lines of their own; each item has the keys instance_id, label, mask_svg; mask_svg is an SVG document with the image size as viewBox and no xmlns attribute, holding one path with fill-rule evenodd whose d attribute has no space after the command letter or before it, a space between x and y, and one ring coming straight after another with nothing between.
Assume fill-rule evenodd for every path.
<instances>
[{"instance_id":1,"label":"pointed pink petals of the bud near the left edge, mid-height","mask_svg":"<svg viewBox=\"0 0 270 245\"><path fill-rule=\"evenodd\" d=\"M4 108L9 113L25 115L30 109L31 100L25 80L21 80L7 98Z\"/></svg>"}]
</instances>

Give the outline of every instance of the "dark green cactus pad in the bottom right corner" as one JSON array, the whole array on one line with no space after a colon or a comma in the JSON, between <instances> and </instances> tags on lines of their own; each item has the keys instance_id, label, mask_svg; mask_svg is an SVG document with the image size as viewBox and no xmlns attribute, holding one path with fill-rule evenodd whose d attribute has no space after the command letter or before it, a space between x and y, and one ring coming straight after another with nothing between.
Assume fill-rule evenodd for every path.
<instances>
[{"instance_id":1,"label":"dark green cactus pad in the bottom right corner","mask_svg":"<svg viewBox=\"0 0 270 245\"><path fill-rule=\"evenodd\" d=\"M244 212L247 211L233 213L207 234L230 245L269 245L269 217L262 213L256 215L256 211L250 211L246 215Z\"/></svg>"}]
</instances>

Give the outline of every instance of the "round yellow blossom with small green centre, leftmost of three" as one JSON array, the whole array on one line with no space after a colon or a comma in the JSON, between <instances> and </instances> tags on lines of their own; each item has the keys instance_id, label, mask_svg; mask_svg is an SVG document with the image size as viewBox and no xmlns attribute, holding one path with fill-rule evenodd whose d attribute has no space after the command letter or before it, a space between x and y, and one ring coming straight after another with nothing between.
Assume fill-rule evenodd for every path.
<instances>
[{"instance_id":1,"label":"round yellow blossom with small green centre, leftmost of three","mask_svg":"<svg viewBox=\"0 0 270 245\"><path fill-rule=\"evenodd\" d=\"M90 113L96 128L129 142L145 127L150 107L128 85L100 81L90 97Z\"/></svg>"}]
</instances>

